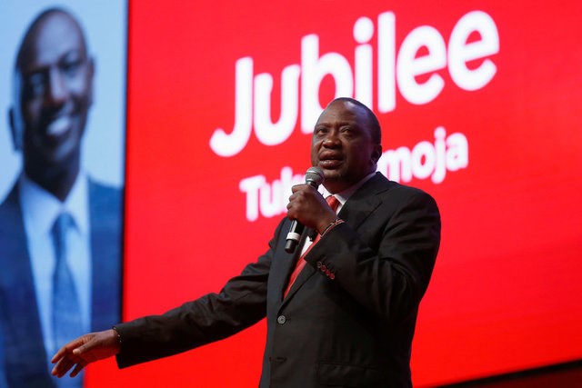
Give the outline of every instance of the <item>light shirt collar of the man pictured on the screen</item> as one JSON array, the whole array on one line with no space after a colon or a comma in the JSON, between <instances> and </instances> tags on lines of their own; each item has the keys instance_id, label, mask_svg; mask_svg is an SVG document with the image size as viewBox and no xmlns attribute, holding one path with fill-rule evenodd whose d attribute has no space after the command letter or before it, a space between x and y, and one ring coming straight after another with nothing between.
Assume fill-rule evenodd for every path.
<instances>
[{"instance_id":1,"label":"light shirt collar of the man pictured on the screen","mask_svg":"<svg viewBox=\"0 0 582 388\"><path fill-rule=\"evenodd\" d=\"M20 204L23 209L25 223L32 225L30 231L34 233L49 233L56 217L66 212L71 214L80 233L88 231L88 199L87 176L80 172L66 196L65 202L59 201L55 195L50 194L40 185L33 182L25 174L21 174L20 180Z\"/></svg>"}]
</instances>

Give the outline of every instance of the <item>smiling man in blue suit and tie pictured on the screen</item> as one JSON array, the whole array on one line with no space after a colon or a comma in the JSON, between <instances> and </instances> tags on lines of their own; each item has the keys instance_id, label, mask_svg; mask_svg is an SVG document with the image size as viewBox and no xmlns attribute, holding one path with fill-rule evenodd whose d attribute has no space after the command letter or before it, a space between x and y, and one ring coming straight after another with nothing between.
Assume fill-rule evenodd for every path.
<instances>
[{"instance_id":1,"label":"smiling man in blue suit and tie pictured on the screen","mask_svg":"<svg viewBox=\"0 0 582 388\"><path fill-rule=\"evenodd\" d=\"M50 356L120 319L122 194L81 166L93 75L75 18L38 15L16 55L9 112L23 170L0 204L0 371L10 387L72 386L51 376Z\"/></svg>"}]
</instances>

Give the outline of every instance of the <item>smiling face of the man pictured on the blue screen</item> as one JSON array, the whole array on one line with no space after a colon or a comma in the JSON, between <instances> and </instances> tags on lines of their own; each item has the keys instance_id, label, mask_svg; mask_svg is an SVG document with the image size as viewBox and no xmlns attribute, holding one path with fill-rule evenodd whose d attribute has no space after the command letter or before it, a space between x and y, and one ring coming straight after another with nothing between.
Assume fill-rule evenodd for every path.
<instances>
[{"instance_id":1,"label":"smiling face of the man pictured on the blue screen","mask_svg":"<svg viewBox=\"0 0 582 388\"><path fill-rule=\"evenodd\" d=\"M11 122L25 164L39 172L78 162L93 93L93 63L79 27L68 15L47 15L19 59Z\"/></svg>"}]
</instances>

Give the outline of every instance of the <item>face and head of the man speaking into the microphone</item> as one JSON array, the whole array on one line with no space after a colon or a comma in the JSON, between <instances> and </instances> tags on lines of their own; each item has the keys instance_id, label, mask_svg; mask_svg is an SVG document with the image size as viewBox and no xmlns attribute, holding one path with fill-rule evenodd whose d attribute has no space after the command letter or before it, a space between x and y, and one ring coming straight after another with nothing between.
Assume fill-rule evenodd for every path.
<instances>
[{"instance_id":1,"label":"face and head of the man speaking into the microphone","mask_svg":"<svg viewBox=\"0 0 582 388\"><path fill-rule=\"evenodd\" d=\"M334 101L319 116L311 140L311 164L325 174L330 193L346 190L371 174L382 153L372 141L366 111L356 104Z\"/></svg>"}]
</instances>

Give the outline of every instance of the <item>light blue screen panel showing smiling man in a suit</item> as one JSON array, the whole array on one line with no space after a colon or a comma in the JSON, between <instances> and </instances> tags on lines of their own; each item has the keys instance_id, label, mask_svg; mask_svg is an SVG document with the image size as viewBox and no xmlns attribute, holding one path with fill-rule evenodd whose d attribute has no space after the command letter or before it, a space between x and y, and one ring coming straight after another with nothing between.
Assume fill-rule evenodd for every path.
<instances>
[{"instance_id":1,"label":"light blue screen panel showing smiling man in a suit","mask_svg":"<svg viewBox=\"0 0 582 388\"><path fill-rule=\"evenodd\" d=\"M77 3L0 13L3 388L53 386L58 348L121 320L126 6Z\"/></svg>"}]
</instances>

